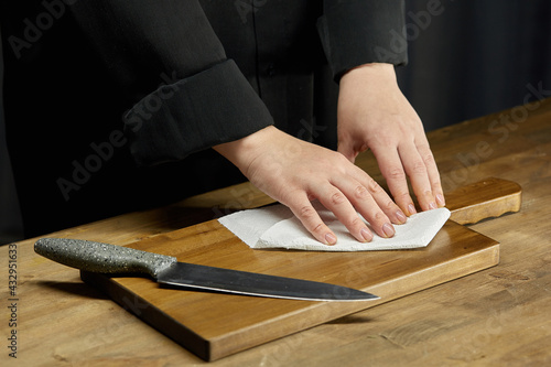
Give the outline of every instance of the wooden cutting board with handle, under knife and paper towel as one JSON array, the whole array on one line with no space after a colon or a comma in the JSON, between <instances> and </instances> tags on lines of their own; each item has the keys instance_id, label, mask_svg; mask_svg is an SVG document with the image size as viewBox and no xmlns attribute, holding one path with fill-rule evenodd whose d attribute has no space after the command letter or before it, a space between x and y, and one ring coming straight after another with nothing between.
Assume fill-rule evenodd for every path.
<instances>
[{"instance_id":1,"label":"wooden cutting board with handle, under knife and paper towel","mask_svg":"<svg viewBox=\"0 0 551 367\"><path fill-rule=\"evenodd\" d=\"M217 220L128 245L180 261L346 285L369 302L309 302L176 290L142 278L82 279L203 359L215 360L279 337L493 267L499 244L461 223L520 208L521 190L498 179L447 194L451 219L423 249L367 252L253 250Z\"/></svg>"}]
</instances>

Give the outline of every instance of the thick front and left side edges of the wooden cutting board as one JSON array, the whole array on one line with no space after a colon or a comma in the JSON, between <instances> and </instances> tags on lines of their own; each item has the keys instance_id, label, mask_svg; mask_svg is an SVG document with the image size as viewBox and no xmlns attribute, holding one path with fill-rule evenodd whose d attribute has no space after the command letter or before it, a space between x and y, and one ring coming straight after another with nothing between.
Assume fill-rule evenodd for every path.
<instances>
[{"instance_id":1,"label":"thick front and left side edges of the wooden cutting board","mask_svg":"<svg viewBox=\"0 0 551 367\"><path fill-rule=\"evenodd\" d=\"M480 253L483 253L484 256L480 257ZM472 262L471 260L473 258L476 258L477 261ZM116 303L118 303L128 312L134 314L140 320L143 320L161 334L170 337L175 343L195 354L199 358L213 361L314 327L316 325L321 325L333 320L337 320L356 312L361 312L379 304L383 304L399 298L407 296L458 278L466 277L474 272L491 268L498 262L499 242L493 240L493 242L487 247L475 252L466 253L465 256L458 257L451 262L446 262L436 267L425 268L414 273L397 278L392 280L392 287L389 287L389 282L385 281L377 284L370 284L361 289L364 291L369 291L371 293L381 295L381 300L379 301L370 301L363 305L352 302L314 302L311 305L291 314L281 315L253 326L247 326L245 328L227 333L213 339L206 339L201 334L185 327L183 324L180 324L176 320L164 313L161 309L145 302L140 295L132 293L130 290L107 276L83 271L80 273L80 278L87 284L107 293ZM450 266L452 266L452 269L454 269L455 271L439 271L440 268L446 267L446 269L449 269ZM442 278L443 273L446 274L445 278ZM408 283L408 287L403 287L404 283ZM395 291L391 293L387 292L387 294L385 294L385 292L378 291L379 288L390 288ZM400 289L408 289L409 291L397 291ZM148 306L140 307L140 305ZM316 314L312 314L312 312L315 312ZM309 313L309 317L305 319L304 315ZM282 321L284 321L285 324L292 326L281 328L278 335L274 335L273 332L261 333L262 330L270 326L281 325ZM174 327L174 325L177 326ZM271 330L273 331L273 328ZM235 344L236 335L239 336L239 344Z\"/></svg>"}]
</instances>

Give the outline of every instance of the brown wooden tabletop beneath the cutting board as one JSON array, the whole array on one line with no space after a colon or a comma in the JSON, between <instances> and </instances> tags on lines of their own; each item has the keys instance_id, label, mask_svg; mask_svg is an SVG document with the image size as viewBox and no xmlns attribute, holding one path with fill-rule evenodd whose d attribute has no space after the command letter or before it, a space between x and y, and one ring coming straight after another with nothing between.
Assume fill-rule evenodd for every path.
<instances>
[{"instance_id":1,"label":"brown wooden tabletop beneath the cutting board","mask_svg":"<svg viewBox=\"0 0 551 367\"><path fill-rule=\"evenodd\" d=\"M471 228L501 244L497 267L210 363L215 366L543 366L551 363L551 99L429 133L444 190L488 176L522 186L520 213ZM358 164L377 175L368 153ZM248 184L52 236L126 245L270 199ZM214 208L213 208L214 207ZM207 364L84 284L78 271L0 248L0 363L21 366ZM11 251L10 251L11 250ZM8 259L17 293L8 293ZM15 259L17 256L17 260ZM17 262L15 262L17 261ZM17 301L9 301L10 298ZM17 310L10 310L17 303ZM12 313L12 311L14 313ZM17 327L9 320L17 317ZM8 346L17 330L17 360Z\"/></svg>"}]
</instances>

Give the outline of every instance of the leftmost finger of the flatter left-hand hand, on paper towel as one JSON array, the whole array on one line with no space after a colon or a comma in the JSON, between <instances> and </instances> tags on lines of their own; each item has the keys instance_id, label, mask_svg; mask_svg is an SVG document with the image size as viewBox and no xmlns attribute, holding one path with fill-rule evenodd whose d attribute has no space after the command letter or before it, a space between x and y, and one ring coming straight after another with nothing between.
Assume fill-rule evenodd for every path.
<instances>
[{"instance_id":1,"label":"leftmost finger of the flatter left-hand hand, on paper towel","mask_svg":"<svg viewBox=\"0 0 551 367\"><path fill-rule=\"evenodd\" d=\"M290 199L287 206L293 214L301 220L304 228L314 236L316 240L325 245L335 245L337 237L335 234L323 223L322 218L307 199L306 195L301 197L295 196Z\"/></svg>"}]
</instances>

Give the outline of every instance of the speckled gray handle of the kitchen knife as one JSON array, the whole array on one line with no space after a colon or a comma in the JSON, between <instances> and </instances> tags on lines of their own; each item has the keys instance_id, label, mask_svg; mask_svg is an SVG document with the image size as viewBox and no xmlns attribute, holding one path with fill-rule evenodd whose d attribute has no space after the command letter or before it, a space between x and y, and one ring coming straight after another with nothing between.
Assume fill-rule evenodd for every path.
<instances>
[{"instance_id":1,"label":"speckled gray handle of the kitchen knife","mask_svg":"<svg viewBox=\"0 0 551 367\"><path fill-rule=\"evenodd\" d=\"M80 270L101 273L148 273L156 276L176 258L133 248L69 238L41 238L34 251Z\"/></svg>"}]
</instances>

